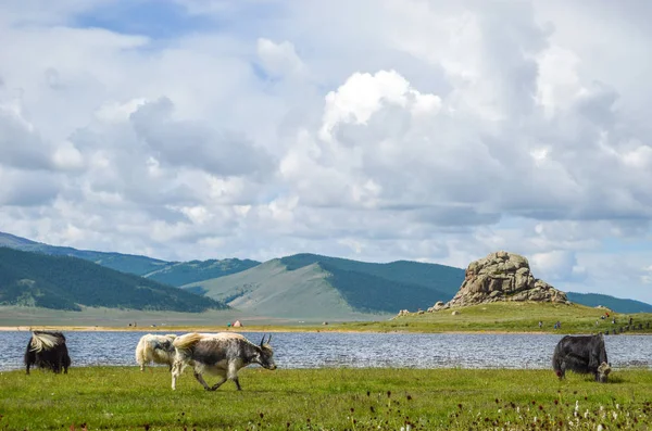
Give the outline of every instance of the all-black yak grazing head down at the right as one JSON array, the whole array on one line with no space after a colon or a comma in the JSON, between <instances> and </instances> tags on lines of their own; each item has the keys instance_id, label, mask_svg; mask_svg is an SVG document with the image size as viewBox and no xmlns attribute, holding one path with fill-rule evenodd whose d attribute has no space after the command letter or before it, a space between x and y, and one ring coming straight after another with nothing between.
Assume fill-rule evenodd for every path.
<instances>
[{"instance_id":1,"label":"all-black yak grazing head down at the right","mask_svg":"<svg viewBox=\"0 0 652 431\"><path fill-rule=\"evenodd\" d=\"M560 379L566 370L579 373L592 373L595 381L605 383L611 366L606 358L604 335L566 335L554 347L552 368Z\"/></svg>"}]
</instances>

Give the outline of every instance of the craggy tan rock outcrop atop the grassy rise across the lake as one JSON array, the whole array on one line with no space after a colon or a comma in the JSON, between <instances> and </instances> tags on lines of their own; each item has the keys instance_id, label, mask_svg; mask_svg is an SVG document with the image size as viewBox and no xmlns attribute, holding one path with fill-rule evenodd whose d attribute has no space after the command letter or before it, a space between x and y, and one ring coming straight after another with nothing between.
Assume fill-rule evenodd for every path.
<instances>
[{"instance_id":1,"label":"craggy tan rock outcrop atop the grassy rise across the lake","mask_svg":"<svg viewBox=\"0 0 652 431\"><path fill-rule=\"evenodd\" d=\"M525 257L501 251L472 262L457 294L448 303L436 304L432 308L446 309L499 301L568 303L564 292L532 276Z\"/></svg>"}]
</instances>

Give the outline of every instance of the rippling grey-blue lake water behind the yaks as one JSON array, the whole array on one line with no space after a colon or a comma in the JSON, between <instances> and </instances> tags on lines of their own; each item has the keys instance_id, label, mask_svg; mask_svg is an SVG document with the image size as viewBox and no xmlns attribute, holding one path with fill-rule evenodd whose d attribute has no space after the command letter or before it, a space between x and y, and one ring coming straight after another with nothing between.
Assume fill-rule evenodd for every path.
<instances>
[{"instance_id":1,"label":"rippling grey-blue lake water behind the yaks","mask_svg":"<svg viewBox=\"0 0 652 431\"><path fill-rule=\"evenodd\" d=\"M136 366L134 352L146 333L65 332L72 366ZM254 343L263 337L243 334ZM0 331L0 371L23 368L29 337L27 331ZM279 368L550 368L562 337L275 332L272 346ZM607 335L604 340L614 368L652 368L652 335Z\"/></svg>"}]
</instances>

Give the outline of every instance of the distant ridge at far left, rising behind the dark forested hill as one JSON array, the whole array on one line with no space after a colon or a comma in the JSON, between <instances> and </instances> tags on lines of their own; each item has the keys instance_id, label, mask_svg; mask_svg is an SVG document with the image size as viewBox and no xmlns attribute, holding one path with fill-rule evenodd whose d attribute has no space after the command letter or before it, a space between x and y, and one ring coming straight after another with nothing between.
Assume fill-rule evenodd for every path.
<instances>
[{"instance_id":1,"label":"distant ridge at far left, rising behind the dark forested hill","mask_svg":"<svg viewBox=\"0 0 652 431\"><path fill-rule=\"evenodd\" d=\"M0 232L0 246L7 246L24 252L39 252L54 256L78 257L105 266L106 268L122 272L136 274L137 276L153 272L168 264L165 261L134 254L93 252L89 250L77 250L71 246L48 245L5 232Z\"/></svg>"}]
</instances>

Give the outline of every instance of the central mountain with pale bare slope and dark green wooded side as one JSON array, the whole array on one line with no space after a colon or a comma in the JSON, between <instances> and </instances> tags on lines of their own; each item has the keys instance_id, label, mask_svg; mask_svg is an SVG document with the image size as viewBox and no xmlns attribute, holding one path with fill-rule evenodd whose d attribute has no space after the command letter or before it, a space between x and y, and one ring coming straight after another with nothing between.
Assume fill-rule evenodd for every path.
<instances>
[{"instance_id":1,"label":"central mountain with pale bare slope and dark green wooded side","mask_svg":"<svg viewBox=\"0 0 652 431\"><path fill-rule=\"evenodd\" d=\"M460 271L416 262L369 264L298 254L181 288L266 316L344 317L396 314L446 301L461 283L454 279L455 270Z\"/></svg>"}]
</instances>

